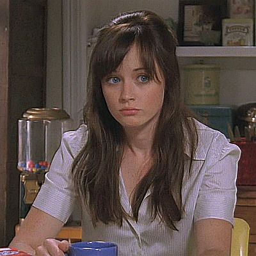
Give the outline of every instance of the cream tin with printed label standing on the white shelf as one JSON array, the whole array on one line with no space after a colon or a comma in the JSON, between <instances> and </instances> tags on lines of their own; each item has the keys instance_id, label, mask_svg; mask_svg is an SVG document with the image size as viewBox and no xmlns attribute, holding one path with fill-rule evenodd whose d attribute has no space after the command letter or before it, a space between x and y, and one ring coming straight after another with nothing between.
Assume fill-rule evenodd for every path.
<instances>
[{"instance_id":1,"label":"cream tin with printed label standing on the white shelf","mask_svg":"<svg viewBox=\"0 0 256 256\"><path fill-rule=\"evenodd\" d=\"M223 19L223 46L253 46L253 19Z\"/></svg>"}]
</instances>

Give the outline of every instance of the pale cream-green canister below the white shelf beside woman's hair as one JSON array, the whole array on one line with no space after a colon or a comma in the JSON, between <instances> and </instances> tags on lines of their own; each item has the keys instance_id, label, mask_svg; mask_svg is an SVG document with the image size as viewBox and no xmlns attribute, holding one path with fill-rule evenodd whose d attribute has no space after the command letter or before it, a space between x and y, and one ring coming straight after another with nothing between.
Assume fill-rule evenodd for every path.
<instances>
[{"instance_id":1,"label":"pale cream-green canister below the white shelf beside woman's hair","mask_svg":"<svg viewBox=\"0 0 256 256\"><path fill-rule=\"evenodd\" d=\"M184 67L184 76L186 104L219 104L220 67L218 65L187 65Z\"/></svg>"}]
</instances>

